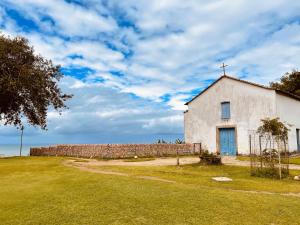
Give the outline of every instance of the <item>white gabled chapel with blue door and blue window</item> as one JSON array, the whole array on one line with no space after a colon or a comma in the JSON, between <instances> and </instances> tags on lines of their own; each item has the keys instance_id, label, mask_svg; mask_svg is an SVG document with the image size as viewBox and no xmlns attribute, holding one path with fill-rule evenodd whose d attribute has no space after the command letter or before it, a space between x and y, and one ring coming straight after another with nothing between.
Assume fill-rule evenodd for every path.
<instances>
[{"instance_id":1,"label":"white gabled chapel with blue door and blue window","mask_svg":"<svg viewBox=\"0 0 300 225\"><path fill-rule=\"evenodd\" d=\"M289 151L300 151L300 97L224 75L186 105L186 143L221 155L249 154L249 131L261 119L279 117L292 125Z\"/></svg>"}]
</instances>

